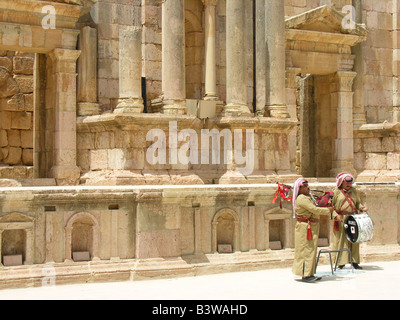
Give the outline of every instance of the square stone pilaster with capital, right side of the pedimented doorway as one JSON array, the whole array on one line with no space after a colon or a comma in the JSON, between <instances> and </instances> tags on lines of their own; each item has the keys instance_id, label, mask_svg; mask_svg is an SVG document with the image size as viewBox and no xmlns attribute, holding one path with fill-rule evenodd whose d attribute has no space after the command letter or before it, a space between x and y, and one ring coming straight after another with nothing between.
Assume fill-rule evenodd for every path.
<instances>
[{"instance_id":1,"label":"square stone pilaster with capital, right side of the pedimented doorway","mask_svg":"<svg viewBox=\"0 0 400 320\"><path fill-rule=\"evenodd\" d=\"M337 105L337 138L331 175L336 177L346 171L355 174L353 135L353 81L355 72L339 71L336 74L336 90L331 93L332 106Z\"/></svg>"}]
</instances>

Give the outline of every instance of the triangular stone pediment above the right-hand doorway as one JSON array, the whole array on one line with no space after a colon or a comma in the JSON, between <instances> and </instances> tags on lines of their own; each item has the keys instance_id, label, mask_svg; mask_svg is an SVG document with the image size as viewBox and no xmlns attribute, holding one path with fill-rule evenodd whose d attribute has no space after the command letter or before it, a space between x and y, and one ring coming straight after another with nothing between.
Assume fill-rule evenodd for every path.
<instances>
[{"instance_id":1,"label":"triangular stone pediment above the right-hand doorway","mask_svg":"<svg viewBox=\"0 0 400 320\"><path fill-rule=\"evenodd\" d=\"M286 19L288 40L326 42L354 46L367 39L368 31L363 24L344 28L348 19L329 6L322 6Z\"/></svg>"}]
</instances>

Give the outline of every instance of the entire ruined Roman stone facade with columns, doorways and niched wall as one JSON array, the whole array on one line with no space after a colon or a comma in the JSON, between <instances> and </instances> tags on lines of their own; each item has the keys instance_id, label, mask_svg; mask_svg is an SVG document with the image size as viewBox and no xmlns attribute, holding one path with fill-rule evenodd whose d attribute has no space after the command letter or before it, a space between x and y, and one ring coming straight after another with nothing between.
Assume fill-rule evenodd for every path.
<instances>
[{"instance_id":1,"label":"entire ruined Roman stone facade with columns, doorways and niched wall","mask_svg":"<svg viewBox=\"0 0 400 320\"><path fill-rule=\"evenodd\" d=\"M400 1L0 13L0 286L290 265L276 183L342 171L375 223L364 259L400 257Z\"/></svg>"}]
</instances>

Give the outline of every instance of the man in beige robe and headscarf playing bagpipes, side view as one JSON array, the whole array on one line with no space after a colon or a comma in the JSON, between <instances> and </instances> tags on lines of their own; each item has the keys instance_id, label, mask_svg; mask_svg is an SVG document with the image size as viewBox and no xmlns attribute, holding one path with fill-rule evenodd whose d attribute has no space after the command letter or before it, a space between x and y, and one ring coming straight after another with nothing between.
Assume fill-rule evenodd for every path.
<instances>
[{"instance_id":1,"label":"man in beige robe and headscarf playing bagpipes, side view","mask_svg":"<svg viewBox=\"0 0 400 320\"><path fill-rule=\"evenodd\" d=\"M319 208L312 199L308 181L298 179L293 187L293 210L297 216L293 273L304 282L314 282L319 238L319 217L331 216L333 207Z\"/></svg>"}]
</instances>

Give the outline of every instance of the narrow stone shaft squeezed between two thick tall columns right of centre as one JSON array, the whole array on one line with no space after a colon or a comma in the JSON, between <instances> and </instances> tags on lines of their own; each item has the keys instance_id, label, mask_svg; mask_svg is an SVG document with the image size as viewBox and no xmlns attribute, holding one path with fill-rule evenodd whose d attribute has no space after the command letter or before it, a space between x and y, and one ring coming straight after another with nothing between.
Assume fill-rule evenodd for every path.
<instances>
[{"instance_id":1,"label":"narrow stone shaft squeezed between two thick tall columns right of centre","mask_svg":"<svg viewBox=\"0 0 400 320\"><path fill-rule=\"evenodd\" d=\"M265 105L267 97L267 78L266 62L267 50L265 42L265 1L255 1L256 6L256 115L263 117L265 115ZM268 1L268 0L267 0Z\"/></svg>"}]
</instances>

